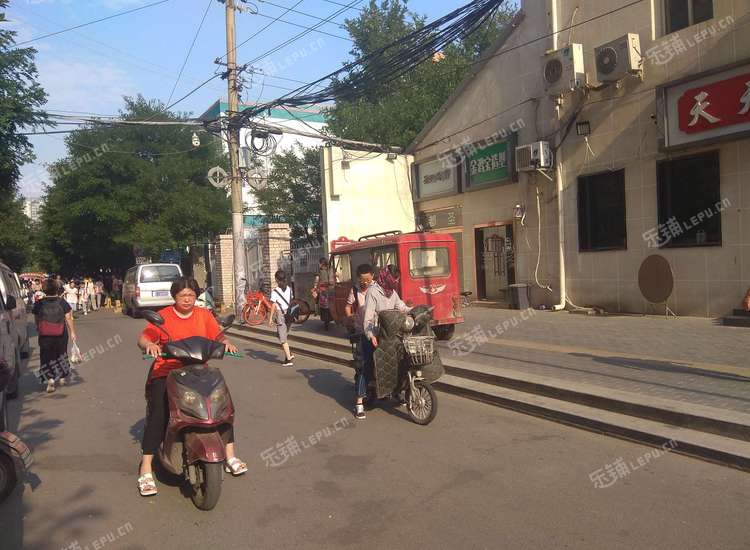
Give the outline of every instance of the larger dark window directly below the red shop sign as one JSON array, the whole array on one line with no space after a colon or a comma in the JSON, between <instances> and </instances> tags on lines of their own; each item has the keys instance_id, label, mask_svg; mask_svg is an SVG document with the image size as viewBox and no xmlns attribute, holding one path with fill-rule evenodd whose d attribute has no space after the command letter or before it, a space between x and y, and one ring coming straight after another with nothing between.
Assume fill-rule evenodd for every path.
<instances>
[{"instance_id":1,"label":"larger dark window directly below the red shop sign","mask_svg":"<svg viewBox=\"0 0 750 550\"><path fill-rule=\"evenodd\" d=\"M657 165L661 246L721 245L719 152Z\"/></svg>"}]
</instances>

